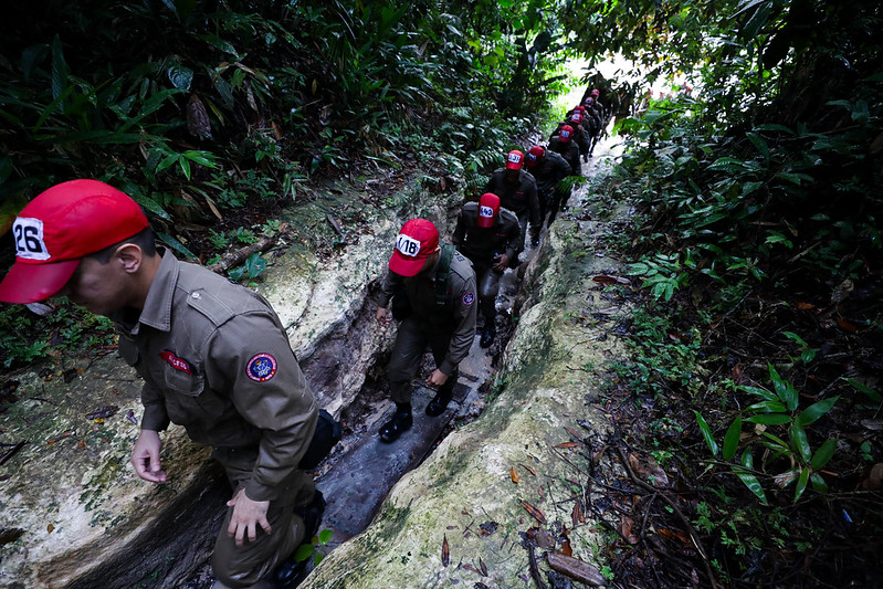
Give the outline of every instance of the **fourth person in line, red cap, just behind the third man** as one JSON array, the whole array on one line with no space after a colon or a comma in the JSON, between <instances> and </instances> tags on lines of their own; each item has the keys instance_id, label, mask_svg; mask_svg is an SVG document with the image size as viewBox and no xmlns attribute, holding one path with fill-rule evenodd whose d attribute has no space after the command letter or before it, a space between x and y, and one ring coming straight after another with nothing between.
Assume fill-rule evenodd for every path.
<instances>
[{"instance_id":1,"label":"fourth person in line, red cap, just behind the third man","mask_svg":"<svg viewBox=\"0 0 883 589\"><path fill-rule=\"evenodd\" d=\"M500 206L511 210L518 217L522 228L522 240L527 234L527 223L530 223L530 244L539 245L539 197L537 196L536 180L524 168L524 154L513 149L506 155L506 166L497 168L491 175L485 187L485 192L500 197ZM524 251L524 241L515 249L515 256L509 260L509 266L518 265L518 256Z\"/></svg>"}]
</instances>

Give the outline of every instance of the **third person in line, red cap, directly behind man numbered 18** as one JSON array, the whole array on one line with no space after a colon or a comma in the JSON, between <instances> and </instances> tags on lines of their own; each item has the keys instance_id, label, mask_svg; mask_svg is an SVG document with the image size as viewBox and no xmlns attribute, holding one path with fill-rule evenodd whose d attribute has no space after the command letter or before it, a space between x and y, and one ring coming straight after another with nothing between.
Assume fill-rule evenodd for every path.
<instances>
[{"instance_id":1,"label":"third person in line, red cap, directly behind man numbered 18","mask_svg":"<svg viewBox=\"0 0 883 589\"><path fill-rule=\"evenodd\" d=\"M484 327L479 345L487 348L496 336L496 295L500 277L523 242L518 218L501 208L500 197L487 192L479 202L467 202L456 217L451 241L458 251L470 259L479 287L479 306Z\"/></svg>"}]
</instances>

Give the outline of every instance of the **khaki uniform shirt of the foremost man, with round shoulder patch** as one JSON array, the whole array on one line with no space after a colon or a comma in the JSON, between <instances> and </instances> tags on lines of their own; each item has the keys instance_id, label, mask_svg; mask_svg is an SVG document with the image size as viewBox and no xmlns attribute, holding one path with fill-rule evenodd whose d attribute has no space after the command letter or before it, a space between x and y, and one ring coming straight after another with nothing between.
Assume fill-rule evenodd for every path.
<instances>
[{"instance_id":1,"label":"khaki uniform shirt of the foremost man, with round shoulder patch","mask_svg":"<svg viewBox=\"0 0 883 589\"><path fill-rule=\"evenodd\" d=\"M140 316L111 318L120 355L145 381L141 428L171 421L197 442L256 449L245 493L275 499L312 441L318 408L270 304L167 252Z\"/></svg>"}]
</instances>

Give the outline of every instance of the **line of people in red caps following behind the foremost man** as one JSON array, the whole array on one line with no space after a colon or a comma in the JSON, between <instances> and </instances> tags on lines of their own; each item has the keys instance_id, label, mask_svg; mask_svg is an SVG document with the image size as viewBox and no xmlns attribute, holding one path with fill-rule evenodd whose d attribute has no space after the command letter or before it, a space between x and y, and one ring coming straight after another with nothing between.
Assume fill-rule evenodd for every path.
<instances>
[{"instance_id":1,"label":"line of people in red caps following behind the foremost man","mask_svg":"<svg viewBox=\"0 0 883 589\"><path fill-rule=\"evenodd\" d=\"M437 368L425 385L437 392L425 413L435 417L451 401L479 309L479 345L493 344L501 277L518 266L526 238L533 248L539 245L544 224L555 221L570 197L575 182L568 179L582 176L580 156L584 161L591 157L605 120L598 95L591 91L585 104L567 113L548 146L532 146L527 156L518 149L506 154L505 166L491 173L479 201L461 209L451 244L442 243L425 219L411 219L401 228L376 301L382 326L399 322L387 368L396 411L380 427L382 442L395 442L413 425L411 379L427 348Z\"/></svg>"}]
</instances>

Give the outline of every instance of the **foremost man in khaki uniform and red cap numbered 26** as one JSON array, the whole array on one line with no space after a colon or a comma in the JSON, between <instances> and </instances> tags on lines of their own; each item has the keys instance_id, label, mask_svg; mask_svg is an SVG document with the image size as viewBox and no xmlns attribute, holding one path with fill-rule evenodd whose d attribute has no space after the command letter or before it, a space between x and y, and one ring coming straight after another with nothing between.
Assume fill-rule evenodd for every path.
<instances>
[{"instance_id":1,"label":"foremost man in khaki uniform and red cap numbered 26","mask_svg":"<svg viewBox=\"0 0 883 589\"><path fill-rule=\"evenodd\" d=\"M120 355L144 379L136 474L166 481L159 432L170 422L213 446L233 486L212 557L216 587L291 581L285 559L315 533L302 515L316 527L324 506L297 469L318 408L270 304L169 252L160 256L140 208L95 180L42 192L13 234L17 263L0 301L66 295L116 324Z\"/></svg>"}]
</instances>

